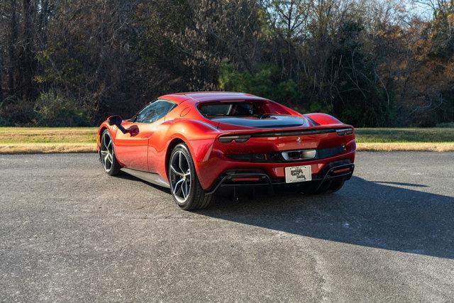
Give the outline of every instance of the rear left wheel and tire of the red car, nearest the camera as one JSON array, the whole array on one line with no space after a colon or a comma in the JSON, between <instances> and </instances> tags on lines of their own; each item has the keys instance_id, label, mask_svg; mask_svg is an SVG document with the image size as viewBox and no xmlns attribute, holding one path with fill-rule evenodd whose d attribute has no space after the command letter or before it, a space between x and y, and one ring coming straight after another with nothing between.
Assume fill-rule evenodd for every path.
<instances>
[{"instance_id":1,"label":"rear left wheel and tire of the red car, nearest the camera","mask_svg":"<svg viewBox=\"0 0 454 303\"><path fill-rule=\"evenodd\" d=\"M196 175L191 153L184 143L172 150L168 163L172 197L184 210L204 209L213 202L212 194L206 194Z\"/></svg>"}]
</instances>

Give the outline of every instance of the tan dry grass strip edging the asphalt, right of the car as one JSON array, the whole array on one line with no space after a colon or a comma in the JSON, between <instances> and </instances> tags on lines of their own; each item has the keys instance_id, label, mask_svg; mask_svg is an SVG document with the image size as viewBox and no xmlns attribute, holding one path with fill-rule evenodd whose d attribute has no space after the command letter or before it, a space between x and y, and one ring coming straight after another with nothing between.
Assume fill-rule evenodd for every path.
<instances>
[{"instance_id":1,"label":"tan dry grass strip edging the asphalt, right of the car","mask_svg":"<svg viewBox=\"0 0 454 303\"><path fill-rule=\"evenodd\" d=\"M454 142L442 143L357 143L359 151L454 151Z\"/></svg>"}]
</instances>

